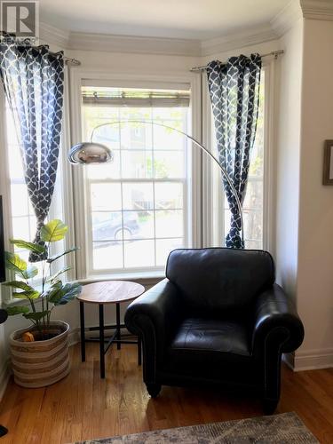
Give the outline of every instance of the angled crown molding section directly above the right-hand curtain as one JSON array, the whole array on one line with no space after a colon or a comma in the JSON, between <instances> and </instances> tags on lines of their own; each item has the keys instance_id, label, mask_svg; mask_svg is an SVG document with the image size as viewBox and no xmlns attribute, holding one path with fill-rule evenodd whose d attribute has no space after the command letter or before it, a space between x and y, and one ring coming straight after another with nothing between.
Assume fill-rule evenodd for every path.
<instances>
[{"instance_id":1,"label":"angled crown molding section directly above the right-hand curtain","mask_svg":"<svg viewBox=\"0 0 333 444\"><path fill-rule=\"evenodd\" d=\"M249 28L243 32L229 34L228 36L220 36L217 38L211 38L209 40L203 40L201 42L200 55L209 56L218 52L242 48L244 46L270 42L272 40L276 40L277 38L278 36L276 35L274 29L269 25Z\"/></svg>"}]
</instances>

